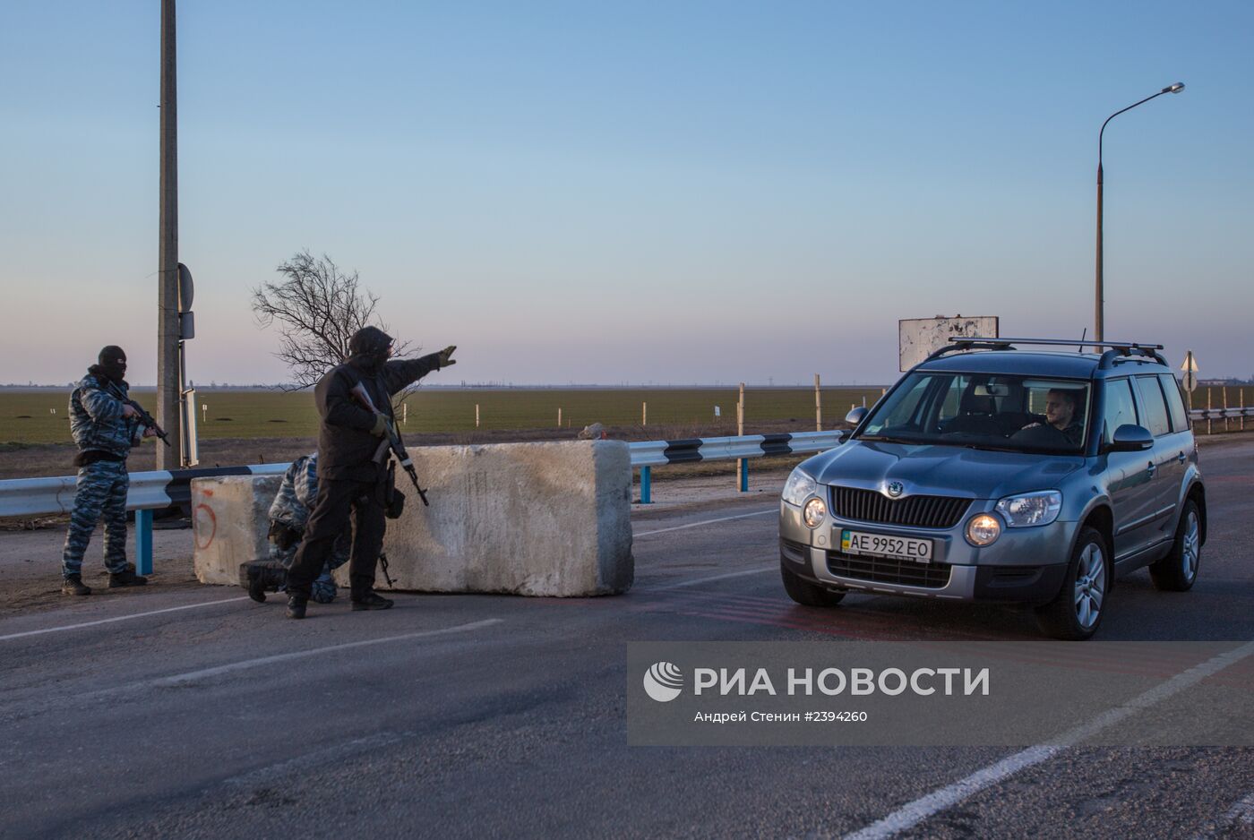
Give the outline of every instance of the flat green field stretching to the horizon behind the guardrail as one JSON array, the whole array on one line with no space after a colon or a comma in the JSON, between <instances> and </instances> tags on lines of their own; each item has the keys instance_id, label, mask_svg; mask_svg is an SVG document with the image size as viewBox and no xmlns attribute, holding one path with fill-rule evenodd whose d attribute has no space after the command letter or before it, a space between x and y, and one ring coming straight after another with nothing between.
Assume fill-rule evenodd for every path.
<instances>
[{"instance_id":1,"label":"flat green field stretching to the horizon behind the guardrail","mask_svg":"<svg viewBox=\"0 0 1254 840\"><path fill-rule=\"evenodd\" d=\"M824 428L841 420L850 405L861 405L863 399L872 404L879 395L879 387L823 389ZM152 410L157 397L140 391L135 399ZM317 431L310 391L199 391L196 401L202 439L295 438ZM69 443L68 402L69 390L0 391L0 443ZM475 405L484 430L554 428L558 409L562 425L571 429L592 423L638 426L646 402L650 426L707 424L716 405L729 428L736 420L735 389L420 389L406 402L406 433L472 431ZM201 406L208 407L202 411ZM401 416L400 407L396 416ZM813 423L814 389L746 389L746 431L752 431L755 421L793 417Z\"/></svg>"}]
</instances>

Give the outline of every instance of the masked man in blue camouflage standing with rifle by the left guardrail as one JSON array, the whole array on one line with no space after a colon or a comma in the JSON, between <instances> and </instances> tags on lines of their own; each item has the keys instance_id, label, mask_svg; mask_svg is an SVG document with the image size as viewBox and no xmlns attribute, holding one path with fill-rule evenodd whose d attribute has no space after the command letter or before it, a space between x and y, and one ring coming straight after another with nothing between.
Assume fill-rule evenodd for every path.
<instances>
[{"instance_id":1,"label":"masked man in blue camouflage standing with rifle by the left guardrail","mask_svg":"<svg viewBox=\"0 0 1254 840\"><path fill-rule=\"evenodd\" d=\"M61 558L61 592L89 596L83 583L83 554L97 523L104 517L104 565L109 569L109 588L139 587L148 583L127 565L127 456L130 448L155 433L139 423L139 412L125 404L129 386L127 354L109 345L100 351L97 365L70 394L70 434L79 453L74 491L74 512L65 535Z\"/></svg>"}]
</instances>

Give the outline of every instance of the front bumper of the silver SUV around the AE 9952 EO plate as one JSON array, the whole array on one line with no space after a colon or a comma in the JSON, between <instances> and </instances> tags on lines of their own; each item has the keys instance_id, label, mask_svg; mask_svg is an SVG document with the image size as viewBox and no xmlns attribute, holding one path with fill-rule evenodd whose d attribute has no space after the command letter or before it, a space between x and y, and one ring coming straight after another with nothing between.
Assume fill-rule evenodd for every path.
<instances>
[{"instance_id":1,"label":"front bumper of the silver SUV around the AE 9952 EO plate","mask_svg":"<svg viewBox=\"0 0 1254 840\"><path fill-rule=\"evenodd\" d=\"M963 537L967 520L992 503L977 500L949 529L908 528L833 518L806 528L801 512L780 501L780 562L820 585L854 592L943 598L1046 603L1057 596L1071 558L1076 523L1007 528L992 545L977 548ZM849 557L840 532L851 528L889 537L930 539L932 563Z\"/></svg>"}]
</instances>

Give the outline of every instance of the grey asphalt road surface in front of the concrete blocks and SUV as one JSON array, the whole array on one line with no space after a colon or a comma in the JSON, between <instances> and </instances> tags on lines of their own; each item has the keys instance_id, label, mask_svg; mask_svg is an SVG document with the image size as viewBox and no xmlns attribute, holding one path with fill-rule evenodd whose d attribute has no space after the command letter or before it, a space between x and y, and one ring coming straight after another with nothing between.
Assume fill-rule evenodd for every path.
<instances>
[{"instance_id":1,"label":"grey asphalt road surface in front of the concrete blocks and SUV","mask_svg":"<svg viewBox=\"0 0 1254 840\"><path fill-rule=\"evenodd\" d=\"M1198 584L1124 579L1102 639L1254 639L1254 441L1203 469ZM1254 748L628 747L628 641L1037 638L1001 607L799 607L774 509L640 513L618 598L401 594L291 622L154 585L9 612L0 836L1254 836Z\"/></svg>"}]
</instances>

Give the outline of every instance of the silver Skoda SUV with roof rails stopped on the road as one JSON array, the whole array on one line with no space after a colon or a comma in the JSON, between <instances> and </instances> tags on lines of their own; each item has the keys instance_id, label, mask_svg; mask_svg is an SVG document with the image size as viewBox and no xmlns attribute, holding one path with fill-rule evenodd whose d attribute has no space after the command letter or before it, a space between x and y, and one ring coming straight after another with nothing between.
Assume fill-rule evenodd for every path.
<instances>
[{"instance_id":1,"label":"silver Skoda SUV with roof rails stopped on the road","mask_svg":"<svg viewBox=\"0 0 1254 840\"><path fill-rule=\"evenodd\" d=\"M784 488L788 594L1018 602L1083 639L1117 575L1149 565L1159 589L1193 587L1206 494L1161 346L1014 347L1065 344L954 340L850 411L853 433Z\"/></svg>"}]
</instances>

